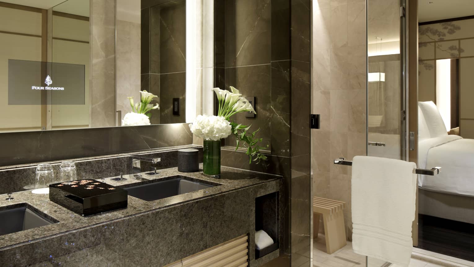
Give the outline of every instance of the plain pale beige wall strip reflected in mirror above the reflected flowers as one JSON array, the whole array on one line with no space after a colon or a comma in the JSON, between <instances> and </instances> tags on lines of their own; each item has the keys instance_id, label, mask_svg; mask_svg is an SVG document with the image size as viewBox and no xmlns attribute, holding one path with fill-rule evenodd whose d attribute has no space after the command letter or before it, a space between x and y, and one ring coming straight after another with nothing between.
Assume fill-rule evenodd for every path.
<instances>
[{"instance_id":1,"label":"plain pale beige wall strip reflected in mirror above the reflected flowers","mask_svg":"<svg viewBox=\"0 0 474 267\"><path fill-rule=\"evenodd\" d=\"M140 99L140 23L117 20L117 110L131 112L127 97Z\"/></svg>"}]
</instances>

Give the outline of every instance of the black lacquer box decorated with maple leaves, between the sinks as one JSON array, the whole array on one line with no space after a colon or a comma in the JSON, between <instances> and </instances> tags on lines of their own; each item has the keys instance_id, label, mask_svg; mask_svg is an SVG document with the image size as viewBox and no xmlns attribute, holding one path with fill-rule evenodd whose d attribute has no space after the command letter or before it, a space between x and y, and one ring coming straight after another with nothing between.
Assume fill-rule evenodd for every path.
<instances>
[{"instance_id":1,"label":"black lacquer box decorated with maple leaves, between the sinks","mask_svg":"<svg viewBox=\"0 0 474 267\"><path fill-rule=\"evenodd\" d=\"M49 185L49 200L82 216L126 208L127 196L126 190L97 180Z\"/></svg>"}]
</instances>

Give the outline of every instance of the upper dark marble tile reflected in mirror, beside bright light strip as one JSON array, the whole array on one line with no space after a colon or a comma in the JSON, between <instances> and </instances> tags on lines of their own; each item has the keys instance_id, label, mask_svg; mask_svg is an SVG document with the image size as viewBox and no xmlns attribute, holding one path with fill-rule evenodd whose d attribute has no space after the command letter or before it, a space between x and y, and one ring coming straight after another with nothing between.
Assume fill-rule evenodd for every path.
<instances>
[{"instance_id":1,"label":"upper dark marble tile reflected in mirror, beside bright light strip","mask_svg":"<svg viewBox=\"0 0 474 267\"><path fill-rule=\"evenodd\" d=\"M160 11L160 74L186 71L186 5Z\"/></svg>"}]
</instances>

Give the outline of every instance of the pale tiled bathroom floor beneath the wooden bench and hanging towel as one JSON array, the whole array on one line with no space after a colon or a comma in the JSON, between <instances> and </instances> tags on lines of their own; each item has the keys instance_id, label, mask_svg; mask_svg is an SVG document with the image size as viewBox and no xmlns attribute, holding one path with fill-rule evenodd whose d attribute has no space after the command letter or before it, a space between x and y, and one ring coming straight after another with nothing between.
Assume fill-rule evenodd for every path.
<instances>
[{"instance_id":1,"label":"pale tiled bathroom floor beneath the wooden bench and hanging towel","mask_svg":"<svg viewBox=\"0 0 474 267\"><path fill-rule=\"evenodd\" d=\"M369 258L369 267L398 267L397 265ZM313 267L365 267L365 256L352 251L352 243L329 255L326 253L326 242L323 235L319 235L313 243ZM410 267L441 267L418 259L411 259Z\"/></svg>"}]
</instances>

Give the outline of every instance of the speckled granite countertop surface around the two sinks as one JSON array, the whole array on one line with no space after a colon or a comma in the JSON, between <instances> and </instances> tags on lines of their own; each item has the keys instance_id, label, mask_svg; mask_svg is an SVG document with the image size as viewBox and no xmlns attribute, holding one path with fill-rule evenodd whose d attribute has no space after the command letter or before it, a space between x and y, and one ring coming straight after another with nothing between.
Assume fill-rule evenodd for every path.
<instances>
[{"instance_id":1,"label":"speckled granite countertop surface around the two sinks","mask_svg":"<svg viewBox=\"0 0 474 267\"><path fill-rule=\"evenodd\" d=\"M145 173L142 173L143 178L149 180L144 180L140 178L137 178L140 179L137 180L134 178L133 175L124 175L123 177L127 178L127 180L125 181L113 181L111 180L111 178L113 177L104 179L95 177L95 180L117 187L126 188L139 184L148 184L158 181L164 181L170 179L174 175L182 175L187 176L189 180L213 184L215 186L191 193L184 193L149 202L129 195L127 208L110 212L102 212L86 217L82 217L81 215L50 201L49 195L33 194L31 193L31 191L23 191L14 193L12 195L14 199L7 201L5 200L7 198L7 195L3 194L0 195L0 210L4 210L5 206L27 203L28 205L37 209L39 212L44 213L47 217L52 217L53 219L59 222L34 229L23 230L16 233L2 235L0 236L0 250L9 249L13 246L21 245L37 239L52 237L65 232L80 230L82 228L90 227L92 225L107 223L110 221L119 220L141 213L152 212L164 208L172 208L173 206L177 206L182 203L188 203L202 198L212 197L213 195L227 193L233 190L242 189L256 184L266 183L281 178L281 176L279 175L269 175L229 167L221 167L220 179L204 176L202 172L178 172L177 167L159 170L158 173L158 175L146 175ZM94 179L94 177L90 177L90 179Z\"/></svg>"}]
</instances>

